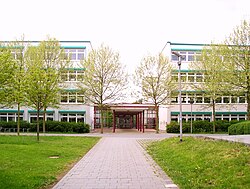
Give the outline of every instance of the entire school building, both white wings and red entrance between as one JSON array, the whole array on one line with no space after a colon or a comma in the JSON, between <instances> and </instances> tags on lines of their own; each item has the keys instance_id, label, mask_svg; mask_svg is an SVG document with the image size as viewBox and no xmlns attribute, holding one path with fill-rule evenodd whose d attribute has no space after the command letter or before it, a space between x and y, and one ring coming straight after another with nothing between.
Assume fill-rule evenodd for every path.
<instances>
[{"instance_id":1,"label":"entire school building, both white wings and red entrance between","mask_svg":"<svg viewBox=\"0 0 250 189\"><path fill-rule=\"evenodd\" d=\"M39 41L29 42L31 45ZM46 120L64 122L85 122L92 129L100 128L101 114L98 107L87 105L84 95L78 90L77 83L84 78L84 68L80 61L87 57L92 49L90 41L60 41L65 53L70 56L70 67L61 75L63 92L60 94L59 108L48 108ZM204 74L193 70L191 63L199 58L201 51L207 44L184 44L168 42L163 49L165 56L174 66L172 78L178 81L178 57L172 52L182 55L181 82L182 82L182 119L183 121L208 120L212 121L211 99L201 91L191 86L204 82ZM14 57L16 56L13 54ZM166 124L180 120L178 96L172 96L169 104L159 107L159 129L165 130ZM247 102L245 95L221 96L216 102L216 120L246 120ZM120 129L155 129L156 112L153 104L110 104L103 114L105 127ZM40 115L42 119L42 114ZM21 107L21 119L28 122L36 121L36 111L30 107ZM0 109L0 121L17 121L17 107Z\"/></svg>"}]
</instances>

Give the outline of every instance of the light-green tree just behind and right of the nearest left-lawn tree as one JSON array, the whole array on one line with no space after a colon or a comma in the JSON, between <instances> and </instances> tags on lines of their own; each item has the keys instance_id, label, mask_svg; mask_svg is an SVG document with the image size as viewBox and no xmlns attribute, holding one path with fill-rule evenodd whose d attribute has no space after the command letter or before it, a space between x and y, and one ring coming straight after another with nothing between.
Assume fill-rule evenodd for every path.
<instances>
[{"instance_id":1,"label":"light-green tree just behind and right of the nearest left-lawn tree","mask_svg":"<svg viewBox=\"0 0 250 189\"><path fill-rule=\"evenodd\" d=\"M64 49L61 48L59 41L55 38L47 38L39 46L42 54L44 75L44 94L43 104L43 132L45 132L46 110L48 107L57 107L59 104L60 76L68 66L69 59L66 57Z\"/></svg>"}]
</instances>

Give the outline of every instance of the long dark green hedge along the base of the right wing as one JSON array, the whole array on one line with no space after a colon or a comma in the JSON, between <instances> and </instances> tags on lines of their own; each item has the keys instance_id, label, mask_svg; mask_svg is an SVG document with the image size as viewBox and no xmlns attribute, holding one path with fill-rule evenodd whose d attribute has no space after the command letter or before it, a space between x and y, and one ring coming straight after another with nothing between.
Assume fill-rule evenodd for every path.
<instances>
[{"instance_id":1,"label":"long dark green hedge along the base of the right wing","mask_svg":"<svg viewBox=\"0 0 250 189\"><path fill-rule=\"evenodd\" d=\"M215 132L228 132L228 127L232 124L238 123L239 121L226 121L218 120L215 121ZM193 121L192 123L193 133L212 133L213 132L213 122L209 121ZM179 133L180 125L178 122L170 122L167 124L166 130L168 133ZM182 122L182 132L190 133L191 132L191 122Z\"/></svg>"}]
</instances>

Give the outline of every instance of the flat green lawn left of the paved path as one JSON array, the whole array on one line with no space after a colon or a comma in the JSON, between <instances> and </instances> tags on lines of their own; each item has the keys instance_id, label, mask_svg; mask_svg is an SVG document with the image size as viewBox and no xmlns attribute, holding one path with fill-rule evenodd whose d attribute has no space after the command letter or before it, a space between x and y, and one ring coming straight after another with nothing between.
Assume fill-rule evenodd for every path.
<instances>
[{"instance_id":1,"label":"flat green lawn left of the paved path","mask_svg":"<svg viewBox=\"0 0 250 189\"><path fill-rule=\"evenodd\" d=\"M0 188L45 188L69 170L98 140L41 136L37 142L36 136L0 136Z\"/></svg>"}]
</instances>

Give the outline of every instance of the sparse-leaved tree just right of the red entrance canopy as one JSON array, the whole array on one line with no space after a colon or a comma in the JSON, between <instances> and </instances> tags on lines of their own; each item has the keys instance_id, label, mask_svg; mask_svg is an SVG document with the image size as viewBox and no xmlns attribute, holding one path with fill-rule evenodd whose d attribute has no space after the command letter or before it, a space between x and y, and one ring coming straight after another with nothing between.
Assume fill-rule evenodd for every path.
<instances>
[{"instance_id":1,"label":"sparse-leaved tree just right of the red entrance canopy","mask_svg":"<svg viewBox=\"0 0 250 189\"><path fill-rule=\"evenodd\" d=\"M172 70L168 59L159 55L143 58L135 71L135 82L141 88L143 98L154 103L156 133L159 133L159 105L166 103L177 87L171 79Z\"/></svg>"}]
</instances>

